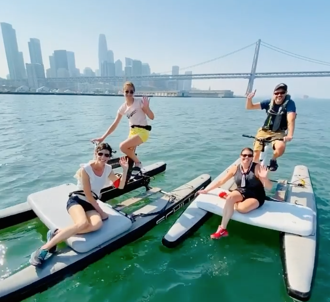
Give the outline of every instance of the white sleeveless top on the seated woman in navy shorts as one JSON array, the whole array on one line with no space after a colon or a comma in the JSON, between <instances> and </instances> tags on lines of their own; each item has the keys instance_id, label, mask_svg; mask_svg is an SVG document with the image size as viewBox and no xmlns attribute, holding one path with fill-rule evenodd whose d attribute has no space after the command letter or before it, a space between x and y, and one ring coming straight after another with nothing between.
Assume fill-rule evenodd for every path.
<instances>
[{"instance_id":1,"label":"white sleeveless top on the seated woman in navy shorts","mask_svg":"<svg viewBox=\"0 0 330 302\"><path fill-rule=\"evenodd\" d=\"M109 175L112 171L112 166L105 164L103 174L101 176L95 175L90 163L80 164L89 176L90 188L97 196L100 196L101 190L109 184ZM78 178L77 190L83 190L82 179Z\"/></svg>"}]
</instances>

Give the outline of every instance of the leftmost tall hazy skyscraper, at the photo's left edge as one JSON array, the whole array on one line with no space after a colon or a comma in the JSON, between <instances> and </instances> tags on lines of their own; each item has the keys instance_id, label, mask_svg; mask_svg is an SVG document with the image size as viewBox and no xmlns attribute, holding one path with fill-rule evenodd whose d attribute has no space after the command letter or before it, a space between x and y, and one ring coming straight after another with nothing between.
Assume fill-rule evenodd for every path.
<instances>
[{"instance_id":1,"label":"leftmost tall hazy skyscraper, at the photo's left edge","mask_svg":"<svg viewBox=\"0 0 330 302\"><path fill-rule=\"evenodd\" d=\"M7 64L9 69L9 75L11 80L25 79L25 66L24 60L22 60L22 54L19 54L16 30L9 23L1 22L1 31L3 37L3 43L5 46Z\"/></svg>"}]
</instances>

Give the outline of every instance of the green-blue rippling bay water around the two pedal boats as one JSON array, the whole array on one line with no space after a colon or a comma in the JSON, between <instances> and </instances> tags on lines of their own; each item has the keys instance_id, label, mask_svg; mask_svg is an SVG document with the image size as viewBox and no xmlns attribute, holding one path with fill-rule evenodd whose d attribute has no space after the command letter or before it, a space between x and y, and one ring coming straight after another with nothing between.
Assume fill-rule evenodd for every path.
<instances>
[{"instance_id":1,"label":"green-blue rippling bay water around the two pedal boats","mask_svg":"<svg viewBox=\"0 0 330 302\"><path fill-rule=\"evenodd\" d=\"M75 183L79 164L92 158L89 140L106 131L122 102L121 97L0 95L0 209L26 201L30 193ZM295 165L310 169L320 224L310 301L326 302L330 301L330 101L295 102L294 139L270 177L290 179ZM265 112L245 110L244 99L152 97L150 107L155 114L150 139L137 152L144 165L167 163L166 171L151 183L165 191L204 173L214 179L243 147L252 146L242 134L255 135L265 118ZM106 141L118 150L128 130L123 118ZM221 219L213 216L182 245L169 250L161 239L181 213L25 301L292 301L282 278L278 232L230 221L230 236L212 241L210 234ZM39 219L1 230L0 278L26 266L46 233Z\"/></svg>"}]
</instances>

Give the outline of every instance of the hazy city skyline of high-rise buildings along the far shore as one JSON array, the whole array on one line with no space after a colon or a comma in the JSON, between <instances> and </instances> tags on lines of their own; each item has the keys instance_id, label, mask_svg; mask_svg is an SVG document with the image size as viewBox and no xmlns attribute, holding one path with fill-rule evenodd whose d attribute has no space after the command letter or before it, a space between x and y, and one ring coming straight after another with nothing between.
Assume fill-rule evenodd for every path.
<instances>
[{"instance_id":1,"label":"hazy city skyline of high-rise buildings along the far shore","mask_svg":"<svg viewBox=\"0 0 330 302\"><path fill-rule=\"evenodd\" d=\"M79 77L134 77L134 76L149 76L155 75L151 73L150 65L147 62L142 62L137 59L125 57L125 66L123 68L122 61L117 59L115 62L114 52L107 45L105 34L99 34L98 41L98 66L95 71L89 66L86 66L81 72L76 67L75 53L70 50L54 50L49 56L49 68L45 70L42 57L41 42L38 38L30 38L28 42L30 63L25 63L23 53L18 50L16 30L12 24L0 22L3 35L3 43L6 50L6 59L9 74L6 80L15 82L6 82L7 86L16 87L20 91L48 91L57 90L58 88L67 91L90 92L116 92L120 89L122 83L120 81L105 81L107 87L102 82L89 83L83 81L79 84L69 84L70 81L61 81L56 83L47 83L46 79L58 78L79 78ZM26 68L26 69L25 69ZM172 66L172 75L179 75L179 66ZM191 71L185 71L184 74L192 74ZM1 78L0 78L1 80ZM18 81L18 82L17 82ZM104 82L104 81L103 81ZM142 90L171 90L171 91L190 91L191 79L186 80L138 80L135 81L137 89ZM103 86L103 87L102 87Z\"/></svg>"}]
</instances>

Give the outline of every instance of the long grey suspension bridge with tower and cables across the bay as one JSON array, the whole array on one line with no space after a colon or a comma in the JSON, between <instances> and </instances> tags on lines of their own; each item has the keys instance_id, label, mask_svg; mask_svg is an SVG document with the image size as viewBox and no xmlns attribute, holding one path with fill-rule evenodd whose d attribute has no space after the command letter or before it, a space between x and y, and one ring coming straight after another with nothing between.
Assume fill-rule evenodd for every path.
<instances>
[{"instance_id":1,"label":"long grey suspension bridge with tower and cables across the bay","mask_svg":"<svg viewBox=\"0 0 330 302\"><path fill-rule=\"evenodd\" d=\"M188 67L181 68L180 70L190 69L196 66L204 65L206 63L224 58L226 56L232 55L239 51L245 50L251 46L255 45L254 57L252 62L251 72L249 73L212 73L212 74L182 74L182 75L170 75L172 71L165 71L158 74L151 75L134 75L134 76L114 76L114 77L75 77L75 78L47 78L48 83L85 83L85 82L122 82L122 81L160 81L160 80L204 80L204 79L248 79L248 87L246 93L249 93L253 89L254 80L257 78L308 78L308 77L330 77L330 71L299 71L299 72L256 72L258 56L260 46L266 47L268 49L286 54L291 57L295 57L304 61L313 62L321 65L330 66L330 62L320 61L312 59L309 57L301 56L293 52L289 52L278 47L272 46L259 39L257 42L245 46L241 49L232 51L220 57L191 65Z\"/></svg>"}]
</instances>

